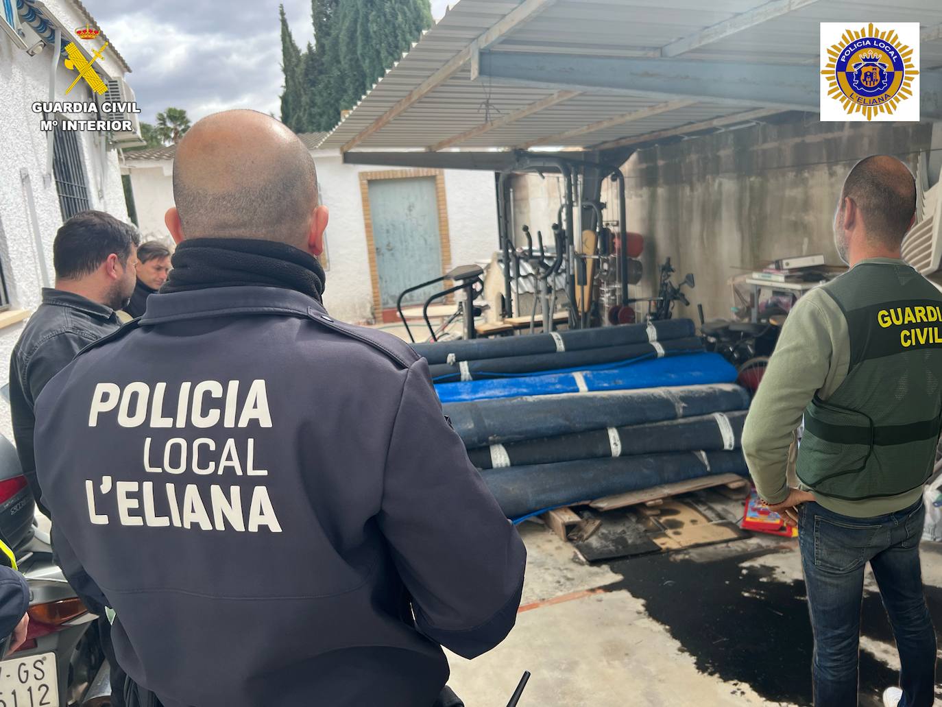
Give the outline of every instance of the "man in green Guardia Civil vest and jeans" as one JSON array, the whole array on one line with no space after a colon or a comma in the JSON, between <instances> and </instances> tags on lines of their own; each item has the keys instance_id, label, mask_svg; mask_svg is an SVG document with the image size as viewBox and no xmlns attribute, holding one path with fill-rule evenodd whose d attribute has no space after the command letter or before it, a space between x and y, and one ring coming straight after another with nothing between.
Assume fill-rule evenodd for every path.
<instances>
[{"instance_id":1,"label":"man in green Guardia Civil vest and jeans","mask_svg":"<svg viewBox=\"0 0 942 707\"><path fill-rule=\"evenodd\" d=\"M864 570L900 652L891 707L930 707L935 633L919 567L922 487L942 421L942 293L902 259L916 183L895 157L847 175L835 242L851 270L788 315L742 449L759 495L798 524L817 707L855 707ZM797 488L789 448L804 416Z\"/></svg>"}]
</instances>

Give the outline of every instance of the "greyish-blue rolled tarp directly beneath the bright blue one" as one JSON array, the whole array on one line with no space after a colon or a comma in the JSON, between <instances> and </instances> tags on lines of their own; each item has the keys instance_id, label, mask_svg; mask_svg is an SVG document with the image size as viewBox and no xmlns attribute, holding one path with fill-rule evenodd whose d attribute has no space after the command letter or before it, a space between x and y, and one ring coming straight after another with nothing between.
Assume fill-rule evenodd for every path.
<instances>
[{"instance_id":1,"label":"greyish-blue rolled tarp directly beneath the bright blue one","mask_svg":"<svg viewBox=\"0 0 942 707\"><path fill-rule=\"evenodd\" d=\"M605 390L594 393L448 403L443 406L468 449L522 439L745 410L749 392L732 384Z\"/></svg>"}]
</instances>

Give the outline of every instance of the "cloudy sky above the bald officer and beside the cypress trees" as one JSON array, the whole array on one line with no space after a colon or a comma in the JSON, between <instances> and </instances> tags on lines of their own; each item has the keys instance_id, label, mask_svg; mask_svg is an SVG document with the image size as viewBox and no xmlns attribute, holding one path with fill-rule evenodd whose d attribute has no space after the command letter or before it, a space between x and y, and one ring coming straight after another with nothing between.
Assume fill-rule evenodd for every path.
<instances>
[{"instance_id":1,"label":"cloudy sky above the bald officer and beside the cypress trees","mask_svg":"<svg viewBox=\"0 0 942 707\"><path fill-rule=\"evenodd\" d=\"M432 15L439 19L456 2L431 0ZM169 106L186 108L194 122L233 107L280 116L276 0L85 0L85 7L130 65L142 120L153 123ZM284 0L284 12L303 48L312 39L310 0Z\"/></svg>"}]
</instances>

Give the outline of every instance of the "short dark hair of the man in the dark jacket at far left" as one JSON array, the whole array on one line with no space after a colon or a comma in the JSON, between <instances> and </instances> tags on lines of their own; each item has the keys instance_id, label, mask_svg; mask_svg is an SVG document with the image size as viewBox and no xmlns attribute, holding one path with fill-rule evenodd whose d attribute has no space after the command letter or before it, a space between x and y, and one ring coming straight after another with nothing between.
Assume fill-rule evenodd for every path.
<instances>
[{"instance_id":1,"label":"short dark hair of the man in the dark jacket at far left","mask_svg":"<svg viewBox=\"0 0 942 707\"><path fill-rule=\"evenodd\" d=\"M140 243L138 229L104 211L81 211L63 223L53 242L56 277L74 280L98 270L108 255L127 264L132 246Z\"/></svg>"}]
</instances>

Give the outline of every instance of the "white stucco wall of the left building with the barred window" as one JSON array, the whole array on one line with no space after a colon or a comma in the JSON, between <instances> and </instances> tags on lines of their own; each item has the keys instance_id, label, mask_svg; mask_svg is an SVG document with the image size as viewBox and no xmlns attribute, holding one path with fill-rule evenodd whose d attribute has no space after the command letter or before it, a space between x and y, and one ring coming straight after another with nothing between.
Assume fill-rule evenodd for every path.
<instances>
[{"instance_id":1,"label":"white stucco wall of the left building with the barred window","mask_svg":"<svg viewBox=\"0 0 942 707\"><path fill-rule=\"evenodd\" d=\"M57 20L64 26L85 25L85 19L65 2L49 2L57 12ZM13 307L27 310L40 304L40 257L44 257L50 278L54 277L52 244L62 224L55 182L46 177L46 134L40 130L41 115L32 112L34 101L49 100L49 74L52 48L46 47L39 55L30 57L14 47L6 34L0 33L0 258ZM116 71L110 60L106 70ZM57 96L55 100L89 101L86 84L77 85L68 96L64 90L74 77L61 61L57 70ZM73 116L76 118L92 116ZM109 148L103 169L102 140L95 134L80 133L79 144L84 160L86 183L91 208L107 211L119 219L127 220L124 206L121 173L117 153ZM37 248L33 236L24 184L20 171L25 169L36 203L36 219L42 238L42 249ZM23 324L0 329L0 383L7 383L9 354L23 330ZM0 401L0 433L11 437L9 406Z\"/></svg>"}]
</instances>

